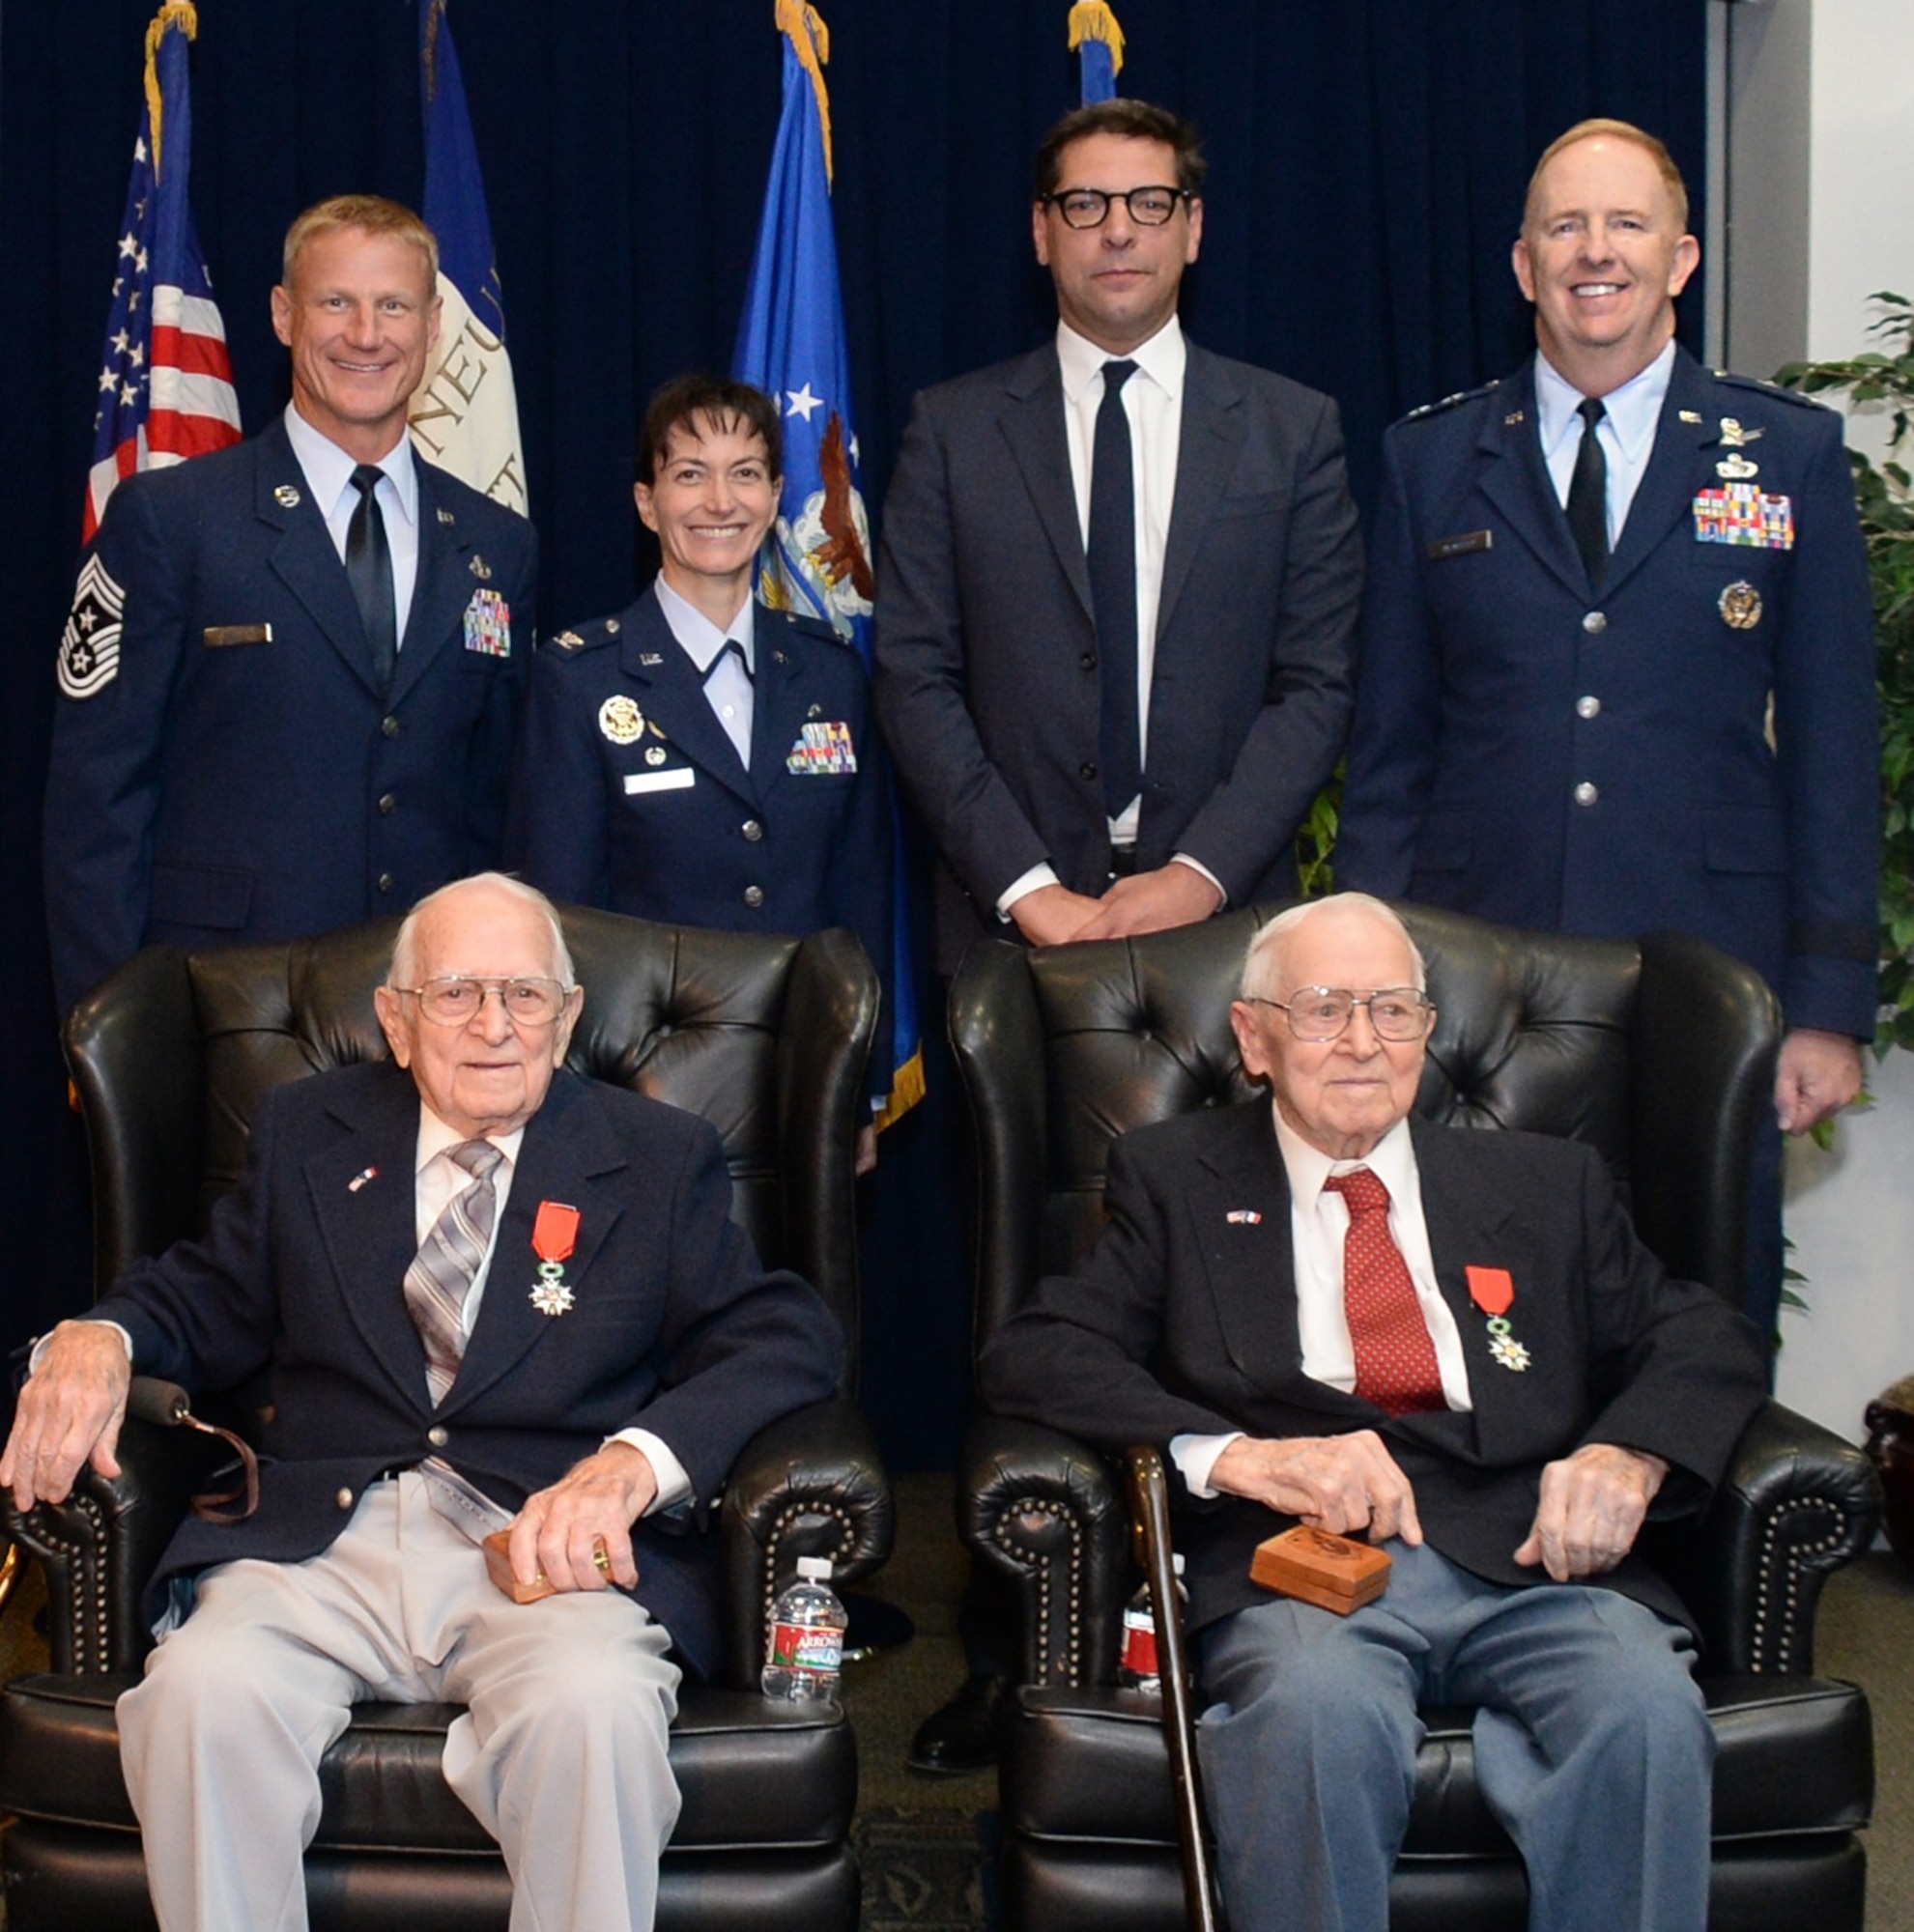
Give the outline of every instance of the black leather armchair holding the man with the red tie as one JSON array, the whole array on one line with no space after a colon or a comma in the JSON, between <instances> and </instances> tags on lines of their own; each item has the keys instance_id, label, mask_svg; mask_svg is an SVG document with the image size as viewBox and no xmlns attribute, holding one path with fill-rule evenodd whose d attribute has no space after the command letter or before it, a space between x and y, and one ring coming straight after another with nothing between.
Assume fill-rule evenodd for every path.
<instances>
[{"instance_id":1,"label":"black leather armchair holding the man with the red tie","mask_svg":"<svg viewBox=\"0 0 1914 1932\"><path fill-rule=\"evenodd\" d=\"M1274 910L1048 952L988 943L965 958L951 1037L978 1134L978 1341L1096 1238L1116 1136L1249 1097L1228 1005L1249 933ZM1680 935L1624 945L1400 910L1440 1014L1419 1111L1593 1142L1663 1262L1738 1298L1746 1150L1779 1039L1759 978ZM1121 1474L1069 1437L986 1414L957 1509L1023 1619L1001 1768L1007 1922L1181 1926L1158 1704L1114 1689L1137 1577ZM1860 1453L1769 1403L1705 1522L1659 1538L1707 1640L1715 1932L1860 1932L1871 1723L1860 1690L1810 1673L1821 1584L1868 1548L1877 1519ZM1522 1928L1522 1861L1477 1791L1469 1714L1425 1721L1390 1924Z\"/></svg>"}]
</instances>

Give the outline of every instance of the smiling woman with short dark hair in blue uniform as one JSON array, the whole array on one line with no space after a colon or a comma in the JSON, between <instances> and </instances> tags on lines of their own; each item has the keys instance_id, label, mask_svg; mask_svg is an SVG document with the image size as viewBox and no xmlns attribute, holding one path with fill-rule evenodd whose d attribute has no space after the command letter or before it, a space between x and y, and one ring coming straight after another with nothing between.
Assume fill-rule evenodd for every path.
<instances>
[{"instance_id":1,"label":"smiling woman with short dark hair in blue uniform","mask_svg":"<svg viewBox=\"0 0 1914 1932\"><path fill-rule=\"evenodd\" d=\"M891 821L864 665L829 624L752 599L781 475L777 404L750 384L686 375L652 398L632 495L663 568L628 611L539 649L507 850L580 906L740 933L847 925L887 981Z\"/></svg>"}]
</instances>

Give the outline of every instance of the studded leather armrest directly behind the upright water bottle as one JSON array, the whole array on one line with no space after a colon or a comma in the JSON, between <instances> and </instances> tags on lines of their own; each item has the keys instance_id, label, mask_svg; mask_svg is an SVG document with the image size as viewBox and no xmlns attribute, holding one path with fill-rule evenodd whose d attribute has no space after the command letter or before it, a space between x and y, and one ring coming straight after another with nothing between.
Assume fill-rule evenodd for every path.
<instances>
[{"instance_id":1,"label":"studded leather armrest directly behind the upright water bottle","mask_svg":"<svg viewBox=\"0 0 1914 1932\"><path fill-rule=\"evenodd\" d=\"M725 1484L727 1673L758 1689L766 1615L798 1557L829 1557L831 1584L868 1577L897 1528L870 1424L837 1397L781 1416L742 1449Z\"/></svg>"}]
</instances>

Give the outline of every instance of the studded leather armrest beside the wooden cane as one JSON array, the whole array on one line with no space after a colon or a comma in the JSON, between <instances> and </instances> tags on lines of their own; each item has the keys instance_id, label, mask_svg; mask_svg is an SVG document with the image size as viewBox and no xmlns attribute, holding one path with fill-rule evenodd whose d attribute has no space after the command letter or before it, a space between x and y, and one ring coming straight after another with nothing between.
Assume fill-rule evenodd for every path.
<instances>
[{"instance_id":1,"label":"studded leather armrest beside the wooden cane","mask_svg":"<svg viewBox=\"0 0 1914 1932\"><path fill-rule=\"evenodd\" d=\"M1112 1466L1071 1435L978 1416L957 1472L957 1530L1017 1604L1019 1679L1116 1677L1129 1513Z\"/></svg>"}]
</instances>

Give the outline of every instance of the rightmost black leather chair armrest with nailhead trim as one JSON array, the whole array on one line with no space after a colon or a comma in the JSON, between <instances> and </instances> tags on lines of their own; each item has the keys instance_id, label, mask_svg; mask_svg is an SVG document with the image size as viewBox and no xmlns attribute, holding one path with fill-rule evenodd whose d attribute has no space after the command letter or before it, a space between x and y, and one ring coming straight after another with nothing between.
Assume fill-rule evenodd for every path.
<instances>
[{"instance_id":1,"label":"rightmost black leather chair armrest with nailhead trim","mask_svg":"<svg viewBox=\"0 0 1914 1932\"><path fill-rule=\"evenodd\" d=\"M1701 1524L1657 1557L1696 1611L1711 1671L1810 1675L1821 1584L1879 1524L1881 1480L1866 1455L1763 1403Z\"/></svg>"}]
</instances>

